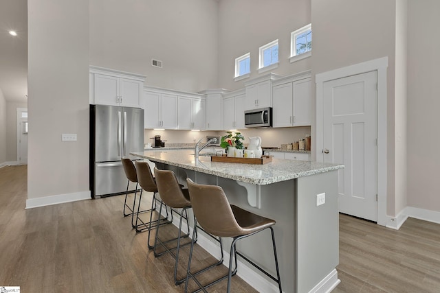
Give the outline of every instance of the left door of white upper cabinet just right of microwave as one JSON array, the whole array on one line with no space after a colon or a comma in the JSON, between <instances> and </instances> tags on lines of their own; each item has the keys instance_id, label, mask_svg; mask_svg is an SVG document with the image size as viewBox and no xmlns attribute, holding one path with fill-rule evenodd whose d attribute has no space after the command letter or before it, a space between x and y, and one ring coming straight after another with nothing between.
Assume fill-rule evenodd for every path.
<instances>
[{"instance_id":1,"label":"left door of white upper cabinet just right of microwave","mask_svg":"<svg viewBox=\"0 0 440 293\"><path fill-rule=\"evenodd\" d=\"M274 127L292 126L292 82L274 86L272 96L272 123Z\"/></svg>"}]
</instances>

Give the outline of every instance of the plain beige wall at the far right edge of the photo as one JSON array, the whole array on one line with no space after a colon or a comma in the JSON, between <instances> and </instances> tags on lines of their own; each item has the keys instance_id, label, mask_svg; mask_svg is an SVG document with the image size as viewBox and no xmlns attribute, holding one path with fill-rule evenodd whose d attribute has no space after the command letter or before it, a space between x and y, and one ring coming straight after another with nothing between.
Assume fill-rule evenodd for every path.
<instances>
[{"instance_id":1,"label":"plain beige wall at the far right edge of the photo","mask_svg":"<svg viewBox=\"0 0 440 293\"><path fill-rule=\"evenodd\" d=\"M408 206L440 211L440 1L408 1Z\"/></svg>"}]
</instances>

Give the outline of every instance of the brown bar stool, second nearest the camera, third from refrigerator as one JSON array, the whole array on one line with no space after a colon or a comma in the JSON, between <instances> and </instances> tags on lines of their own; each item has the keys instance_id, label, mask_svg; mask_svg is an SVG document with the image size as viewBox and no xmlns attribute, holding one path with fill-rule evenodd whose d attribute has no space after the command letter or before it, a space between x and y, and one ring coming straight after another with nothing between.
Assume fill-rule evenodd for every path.
<instances>
[{"instance_id":1,"label":"brown bar stool, second nearest the camera, third from refrigerator","mask_svg":"<svg viewBox=\"0 0 440 293\"><path fill-rule=\"evenodd\" d=\"M170 239L162 242L162 240L159 239L158 237L159 226L157 226L155 243L154 243L154 255L155 257L158 257L160 255L163 255L164 253L169 253L175 258L174 281L176 285L179 285L184 281L186 281L186 277L180 280L177 279L177 268L179 265L179 250L183 246L187 246L191 243L197 242L197 226L194 226L194 232L192 234L192 242L188 242L186 244L181 245L180 244L181 238L188 237L190 233L190 226L188 223L188 209L191 208L191 202L190 202L190 196L188 194L188 189L183 189L182 185L179 185L179 182L177 181L177 178L173 171L160 170L155 167L154 173L157 183L157 189L159 190L159 195L160 198L162 199L162 203L160 204L159 207L159 214L162 211L162 204L166 204L168 207L170 207L171 213L174 212L180 215L179 232L177 233L177 237L174 239ZM179 212L176 209L181 209L181 211ZM183 220L186 220L186 228L188 229L188 233L186 233L185 235L181 235L181 226ZM203 268L198 272L195 272L194 273L195 275L204 272L205 270L208 270L208 268L212 268L213 266L219 266L221 263L223 263L223 248L222 248L223 246L221 245L221 239L217 239L215 237L213 238L220 242L221 260L208 266L207 268ZM177 246L175 248L168 248L166 246L168 242L173 242L175 240L177 240ZM164 252L156 253L156 247L158 244L160 244L165 248ZM176 250L176 253L174 254L172 250Z\"/></svg>"}]
</instances>

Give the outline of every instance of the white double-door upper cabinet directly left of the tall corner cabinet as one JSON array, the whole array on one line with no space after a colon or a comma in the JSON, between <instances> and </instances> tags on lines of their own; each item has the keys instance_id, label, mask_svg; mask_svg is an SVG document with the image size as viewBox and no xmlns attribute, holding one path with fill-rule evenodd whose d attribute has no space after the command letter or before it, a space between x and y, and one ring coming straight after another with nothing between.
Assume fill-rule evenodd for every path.
<instances>
[{"instance_id":1,"label":"white double-door upper cabinet directly left of the tall corner cabinet","mask_svg":"<svg viewBox=\"0 0 440 293\"><path fill-rule=\"evenodd\" d=\"M206 124L204 99L179 96L177 100L178 129L204 130Z\"/></svg>"}]
</instances>

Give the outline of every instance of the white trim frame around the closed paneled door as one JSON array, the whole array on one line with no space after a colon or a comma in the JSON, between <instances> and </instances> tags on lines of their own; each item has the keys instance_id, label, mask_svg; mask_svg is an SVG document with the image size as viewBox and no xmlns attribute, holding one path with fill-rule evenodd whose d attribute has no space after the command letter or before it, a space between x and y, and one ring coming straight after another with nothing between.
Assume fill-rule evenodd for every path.
<instances>
[{"instance_id":1,"label":"white trim frame around the closed paneled door","mask_svg":"<svg viewBox=\"0 0 440 293\"><path fill-rule=\"evenodd\" d=\"M386 68L388 57L316 75L316 161L322 162L322 86L324 82L377 71L377 224L386 226Z\"/></svg>"}]
</instances>

